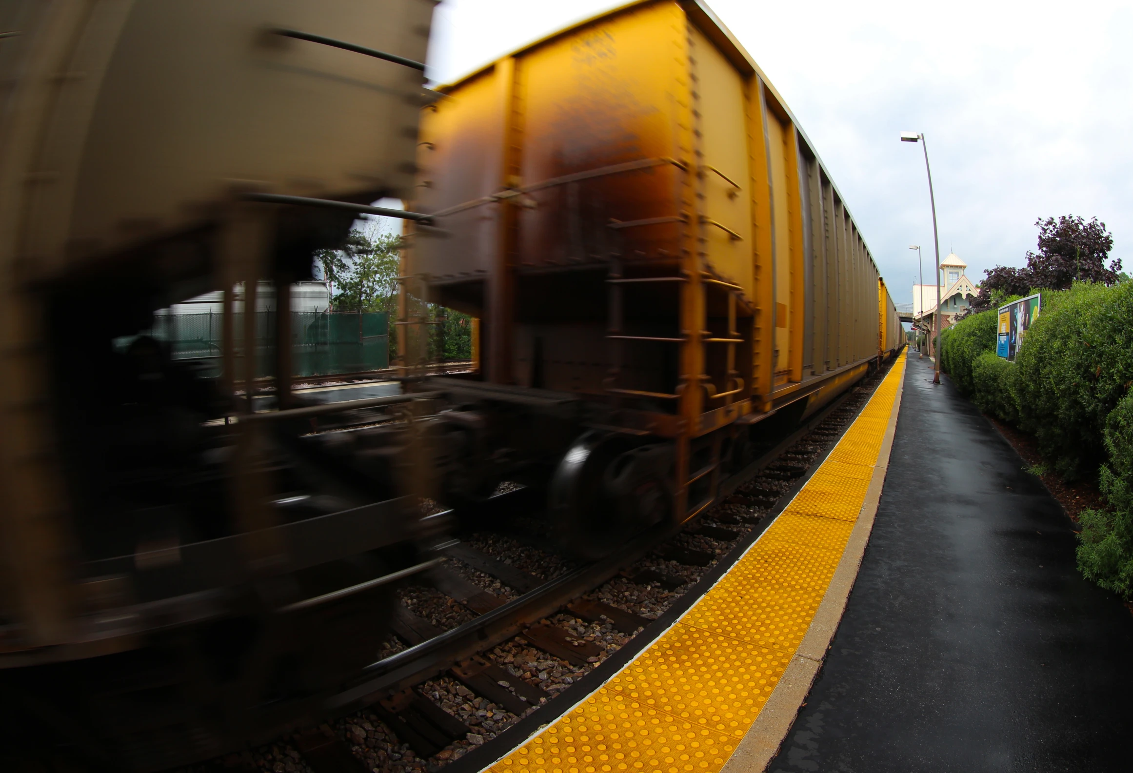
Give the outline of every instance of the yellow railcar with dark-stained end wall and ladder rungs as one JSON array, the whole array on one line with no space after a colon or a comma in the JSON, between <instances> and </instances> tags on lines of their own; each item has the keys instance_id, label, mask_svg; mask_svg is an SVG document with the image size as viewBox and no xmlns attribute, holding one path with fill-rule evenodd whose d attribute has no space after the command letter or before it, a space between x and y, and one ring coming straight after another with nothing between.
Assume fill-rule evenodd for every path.
<instances>
[{"instance_id":1,"label":"yellow railcar with dark-stained end wall and ladder rungs","mask_svg":"<svg viewBox=\"0 0 1133 773\"><path fill-rule=\"evenodd\" d=\"M479 321L480 381L426 387L476 417L446 501L510 476L610 550L902 346L842 195L702 2L629 3L438 91L400 330L424 338L421 301Z\"/></svg>"}]
</instances>

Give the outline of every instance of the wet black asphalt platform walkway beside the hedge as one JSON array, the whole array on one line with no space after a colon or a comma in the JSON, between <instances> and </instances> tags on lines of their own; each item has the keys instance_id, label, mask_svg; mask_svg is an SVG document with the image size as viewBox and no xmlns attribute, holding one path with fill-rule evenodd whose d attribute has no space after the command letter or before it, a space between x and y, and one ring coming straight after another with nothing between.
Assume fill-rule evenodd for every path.
<instances>
[{"instance_id":1,"label":"wet black asphalt platform walkway beside the hedge","mask_svg":"<svg viewBox=\"0 0 1133 773\"><path fill-rule=\"evenodd\" d=\"M1133 615L1071 521L910 351L845 617L768 771L1133 771Z\"/></svg>"}]
</instances>

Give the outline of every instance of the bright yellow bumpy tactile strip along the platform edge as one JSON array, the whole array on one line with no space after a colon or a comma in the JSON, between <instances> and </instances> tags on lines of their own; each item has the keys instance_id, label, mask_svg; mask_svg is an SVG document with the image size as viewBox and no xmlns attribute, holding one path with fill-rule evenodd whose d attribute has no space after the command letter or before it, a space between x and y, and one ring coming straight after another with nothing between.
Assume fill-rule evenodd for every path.
<instances>
[{"instance_id":1,"label":"bright yellow bumpy tactile strip along the platform edge","mask_svg":"<svg viewBox=\"0 0 1133 773\"><path fill-rule=\"evenodd\" d=\"M904 366L902 354L802 490L680 621L596 693L487 770L723 768L811 627L875 467L887 462L888 455L881 460L879 452Z\"/></svg>"}]
</instances>

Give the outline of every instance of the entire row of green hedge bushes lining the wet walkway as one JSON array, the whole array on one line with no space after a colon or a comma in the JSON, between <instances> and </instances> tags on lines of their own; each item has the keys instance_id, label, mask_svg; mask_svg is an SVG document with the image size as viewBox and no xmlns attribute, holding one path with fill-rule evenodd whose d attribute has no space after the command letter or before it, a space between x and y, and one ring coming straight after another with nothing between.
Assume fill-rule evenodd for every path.
<instances>
[{"instance_id":1,"label":"entire row of green hedge bushes lining the wet walkway","mask_svg":"<svg viewBox=\"0 0 1133 773\"><path fill-rule=\"evenodd\" d=\"M1099 470L1109 509L1081 513L1079 569L1133 600L1133 282L1043 291L1015 363L994 351L997 316L946 331L942 368L980 410L1034 434L1065 479Z\"/></svg>"}]
</instances>

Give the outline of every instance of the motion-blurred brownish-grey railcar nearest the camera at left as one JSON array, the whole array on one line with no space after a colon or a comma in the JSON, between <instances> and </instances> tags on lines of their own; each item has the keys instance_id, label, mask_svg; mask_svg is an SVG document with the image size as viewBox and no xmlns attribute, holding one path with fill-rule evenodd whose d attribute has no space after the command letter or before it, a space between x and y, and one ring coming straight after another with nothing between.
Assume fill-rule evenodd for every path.
<instances>
[{"instance_id":1,"label":"motion-blurred brownish-grey railcar nearest the camera at left","mask_svg":"<svg viewBox=\"0 0 1133 773\"><path fill-rule=\"evenodd\" d=\"M309 418L250 414L256 315L232 301L408 195L433 7L0 3L6 730L39 713L157 770L314 721L376 660L419 516L303 448ZM219 382L139 334L215 290Z\"/></svg>"}]
</instances>

